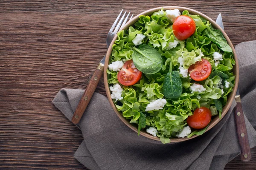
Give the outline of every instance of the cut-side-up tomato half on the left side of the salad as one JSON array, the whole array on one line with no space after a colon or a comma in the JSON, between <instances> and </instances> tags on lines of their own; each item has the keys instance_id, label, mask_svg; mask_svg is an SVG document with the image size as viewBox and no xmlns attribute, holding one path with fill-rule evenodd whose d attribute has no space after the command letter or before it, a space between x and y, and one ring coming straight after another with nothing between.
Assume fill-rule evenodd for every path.
<instances>
[{"instance_id":1,"label":"cut-side-up tomato half on the left side of the salad","mask_svg":"<svg viewBox=\"0 0 256 170\"><path fill-rule=\"evenodd\" d=\"M142 72L139 71L132 59L125 62L122 69L117 74L117 79L122 85L134 85L142 76Z\"/></svg>"}]
</instances>

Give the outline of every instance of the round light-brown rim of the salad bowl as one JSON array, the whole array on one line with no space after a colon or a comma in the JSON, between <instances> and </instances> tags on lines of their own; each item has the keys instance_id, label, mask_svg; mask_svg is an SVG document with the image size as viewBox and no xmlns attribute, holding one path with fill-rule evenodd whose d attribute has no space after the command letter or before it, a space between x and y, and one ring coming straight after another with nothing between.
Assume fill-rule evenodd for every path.
<instances>
[{"instance_id":1,"label":"round light-brown rim of the salad bowl","mask_svg":"<svg viewBox=\"0 0 256 170\"><path fill-rule=\"evenodd\" d=\"M151 8L147 11L144 11L138 15L136 15L134 18L132 18L128 23L125 24L125 26L123 26L123 28L121 28L121 30L124 30L124 29L127 29L129 26L133 25L135 22L137 22L137 20L139 20L139 16L140 15L151 15L153 14L154 12L156 11L159 11L161 8L163 8L164 10L173 10L173 9L179 9L182 13L182 11L184 10L188 10L189 11L189 14L196 14L196 15L200 15L201 17L205 18L206 20L208 20L211 24L212 24L212 27L215 28L215 29L219 29L221 30L222 34L224 35L225 39L227 40L227 43L230 45L230 47L232 48L233 50L233 54L234 54L234 59L235 59L235 62L236 64L233 65L233 73L234 75L236 75L235 77L235 85L233 87L233 91L228 95L227 97L227 104L223 107L223 111L221 113L221 117L223 118L227 111L229 110L229 108L231 107L232 105L232 102L233 102L233 99L235 98L235 95L236 95L236 91L237 91L237 88L238 88L238 82L239 82L239 65L238 65L238 59L237 59L237 56L236 56L236 51L235 51L235 48L232 44L232 42L230 41L229 37L227 36L227 34L224 32L224 30L217 24L215 23L214 20L212 20L211 18L209 18L207 15L199 12L199 11L196 11L194 9L191 9L191 8L186 8L186 7L181 7L181 6L161 6L161 7L157 7L157 8ZM108 100L113 108L113 110L115 111L116 115L119 117L119 119L121 119L121 121L127 125L128 127L130 127L132 130L134 130L135 132L138 133L138 130L137 130L137 126L136 125L132 125L129 123L128 119L126 119L125 117L122 116L122 113L119 112L117 109L116 109L116 106L115 104L113 103L113 100L111 99L111 93L110 93L110 89L109 89L109 84L108 84L108 74L107 74L107 69L108 69L108 62L109 62L109 57L111 55L111 51L112 51L112 46L115 42L117 38L117 34L115 35L115 37L113 38L111 44L109 45L109 48L108 48L108 51L107 51L107 54L106 54L106 59L105 59L105 67L104 67L104 85L105 85L105 90L106 90L106 94L108 96ZM205 132L207 132L208 130L210 130L212 127L214 127L218 122L220 122L221 119L219 119L218 116L215 116L212 121L210 122L210 125L207 127L207 130ZM148 133L146 133L145 131L140 131L140 135L142 136L145 136L146 138L149 138L149 139L153 139L153 140L156 140L156 141L160 141L160 138L159 137L154 137ZM193 139L195 137L197 137L198 135L194 135L190 138L170 138L171 139L171 142L170 143L174 143L174 142L183 142L183 141L187 141L189 139Z\"/></svg>"}]
</instances>

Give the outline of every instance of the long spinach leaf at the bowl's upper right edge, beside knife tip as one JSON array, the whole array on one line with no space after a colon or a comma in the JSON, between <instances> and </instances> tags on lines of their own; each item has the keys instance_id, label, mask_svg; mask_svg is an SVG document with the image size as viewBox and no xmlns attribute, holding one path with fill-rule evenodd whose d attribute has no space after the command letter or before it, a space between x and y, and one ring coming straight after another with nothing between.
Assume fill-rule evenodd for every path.
<instances>
[{"instance_id":1,"label":"long spinach leaf at the bowl's upper right edge, beside knife tip","mask_svg":"<svg viewBox=\"0 0 256 170\"><path fill-rule=\"evenodd\" d=\"M222 51L233 51L230 45L228 45L227 40L224 38L221 30L212 28L212 26L208 22L206 27L207 29L205 30L205 33L207 37L209 37L209 39L212 40L212 42L215 42L221 48Z\"/></svg>"}]
</instances>

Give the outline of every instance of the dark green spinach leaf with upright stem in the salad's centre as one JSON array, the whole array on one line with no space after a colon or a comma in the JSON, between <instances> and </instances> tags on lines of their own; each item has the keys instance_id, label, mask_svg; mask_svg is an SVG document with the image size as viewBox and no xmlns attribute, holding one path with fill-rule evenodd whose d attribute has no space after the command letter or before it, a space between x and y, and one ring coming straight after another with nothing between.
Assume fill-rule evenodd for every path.
<instances>
[{"instance_id":1,"label":"dark green spinach leaf with upright stem in the salad's centre","mask_svg":"<svg viewBox=\"0 0 256 170\"><path fill-rule=\"evenodd\" d=\"M182 82L180 74L172 71L172 60L170 62L170 71L163 80L163 95L167 99L176 99L182 94Z\"/></svg>"}]
</instances>

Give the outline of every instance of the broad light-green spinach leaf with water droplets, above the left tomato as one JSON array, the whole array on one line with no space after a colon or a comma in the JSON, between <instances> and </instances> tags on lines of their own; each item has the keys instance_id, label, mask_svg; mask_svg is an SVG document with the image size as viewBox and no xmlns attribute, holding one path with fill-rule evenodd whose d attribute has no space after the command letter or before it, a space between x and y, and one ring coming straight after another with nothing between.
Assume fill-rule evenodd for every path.
<instances>
[{"instance_id":1,"label":"broad light-green spinach leaf with water droplets, above the left tomato","mask_svg":"<svg viewBox=\"0 0 256 170\"><path fill-rule=\"evenodd\" d=\"M133 49L132 59L138 70L145 74L155 74L161 70L163 59L156 49L145 44Z\"/></svg>"}]
</instances>

